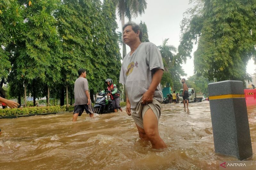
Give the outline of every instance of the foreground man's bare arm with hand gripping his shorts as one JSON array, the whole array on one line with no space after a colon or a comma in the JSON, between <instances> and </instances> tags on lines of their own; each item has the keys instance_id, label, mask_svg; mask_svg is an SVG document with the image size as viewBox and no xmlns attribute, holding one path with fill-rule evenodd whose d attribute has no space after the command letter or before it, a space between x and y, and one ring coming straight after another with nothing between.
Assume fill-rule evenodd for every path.
<instances>
[{"instance_id":1,"label":"foreground man's bare arm with hand gripping his shorts","mask_svg":"<svg viewBox=\"0 0 256 170\"><path fill-rule=\"evenodd\" d=\"M162 76L164 74L164 70L162 69L153 69L152 72L155 72L149 85L147 92L145 92L142 96L142 104L150 103L153 101L154 92L161 82Z\"/></svg>"}]
</instances>

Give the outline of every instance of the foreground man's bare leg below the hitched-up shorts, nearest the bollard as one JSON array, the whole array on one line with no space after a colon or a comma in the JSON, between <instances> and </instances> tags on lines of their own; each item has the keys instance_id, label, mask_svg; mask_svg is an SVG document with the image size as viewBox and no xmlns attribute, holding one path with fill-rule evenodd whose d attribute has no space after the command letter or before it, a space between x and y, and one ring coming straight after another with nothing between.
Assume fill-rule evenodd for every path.
<instances>
[{"instance_id":1,"label":"foreground man's bare leg below the hitched-up shorts, nearest the bollard","mask_svg":"<svg viewBox=\"0 0 256 170\"><path fill-rule=\"evenodd\" d=\"M152 148L160 149L166 148L166 144L163 139L159 136L158 132L158 121L153 110L149 108L143 117L143 128L144 131L152 144Z\"/></svg>"}]
</instances>

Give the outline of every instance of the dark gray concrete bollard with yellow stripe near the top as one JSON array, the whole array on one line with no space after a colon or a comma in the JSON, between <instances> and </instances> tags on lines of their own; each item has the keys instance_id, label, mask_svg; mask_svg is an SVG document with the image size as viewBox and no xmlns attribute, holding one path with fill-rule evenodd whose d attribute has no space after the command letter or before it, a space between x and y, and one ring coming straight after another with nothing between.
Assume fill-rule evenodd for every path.
<instances>
[{"instance_id":1,"label":"dark gray concrete bollard with yellow stripe near the top","mask_svg":"<svg viewBox=\"0 0 256 170\"><path fill-rule=\"evenodd\" d=\"M208 84L216 153L244 160L252 156L252 143L242 81Z\"/></svg>"}]
</instances>

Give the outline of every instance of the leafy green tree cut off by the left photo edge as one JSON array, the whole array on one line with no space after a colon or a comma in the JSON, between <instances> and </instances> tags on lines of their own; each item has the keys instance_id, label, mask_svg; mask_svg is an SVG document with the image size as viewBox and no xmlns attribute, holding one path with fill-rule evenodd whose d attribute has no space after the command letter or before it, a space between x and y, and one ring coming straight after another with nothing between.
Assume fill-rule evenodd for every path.
<instances>
[{"instance_id":1,"label":"leafy green tree cut off by the left photo edge","mask_svg":"<svg viewBox=\"0 0 256 170\"><path fill-rule=\"evenodd\" d=\"M12 48L23 25L23 12L24 6L18 0L0 0L0 87L11 69Z\"/></svg>"}]
</instances>

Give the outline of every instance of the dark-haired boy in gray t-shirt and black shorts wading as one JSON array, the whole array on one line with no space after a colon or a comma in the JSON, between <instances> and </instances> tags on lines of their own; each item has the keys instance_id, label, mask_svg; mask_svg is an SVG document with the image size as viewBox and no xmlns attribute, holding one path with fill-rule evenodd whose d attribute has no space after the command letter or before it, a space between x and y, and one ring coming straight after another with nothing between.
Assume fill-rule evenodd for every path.
<instances>
[{"instance_id":1,"label":"dark-haired boy in gray t-shirt and black shorts wading","mask_svg":"<svg viewBox=\"0 0 256 170\"><path fill-rule=\"evenodd\" d=\"M84 110L90 117L93 116L92 102L89 94L88 81L86 79L86 71L84 69L78 70L79 78L75 82L75 108L73 113L73 122L76 122L77 117L81 116Z\"/></svg>"}]
</instances>

